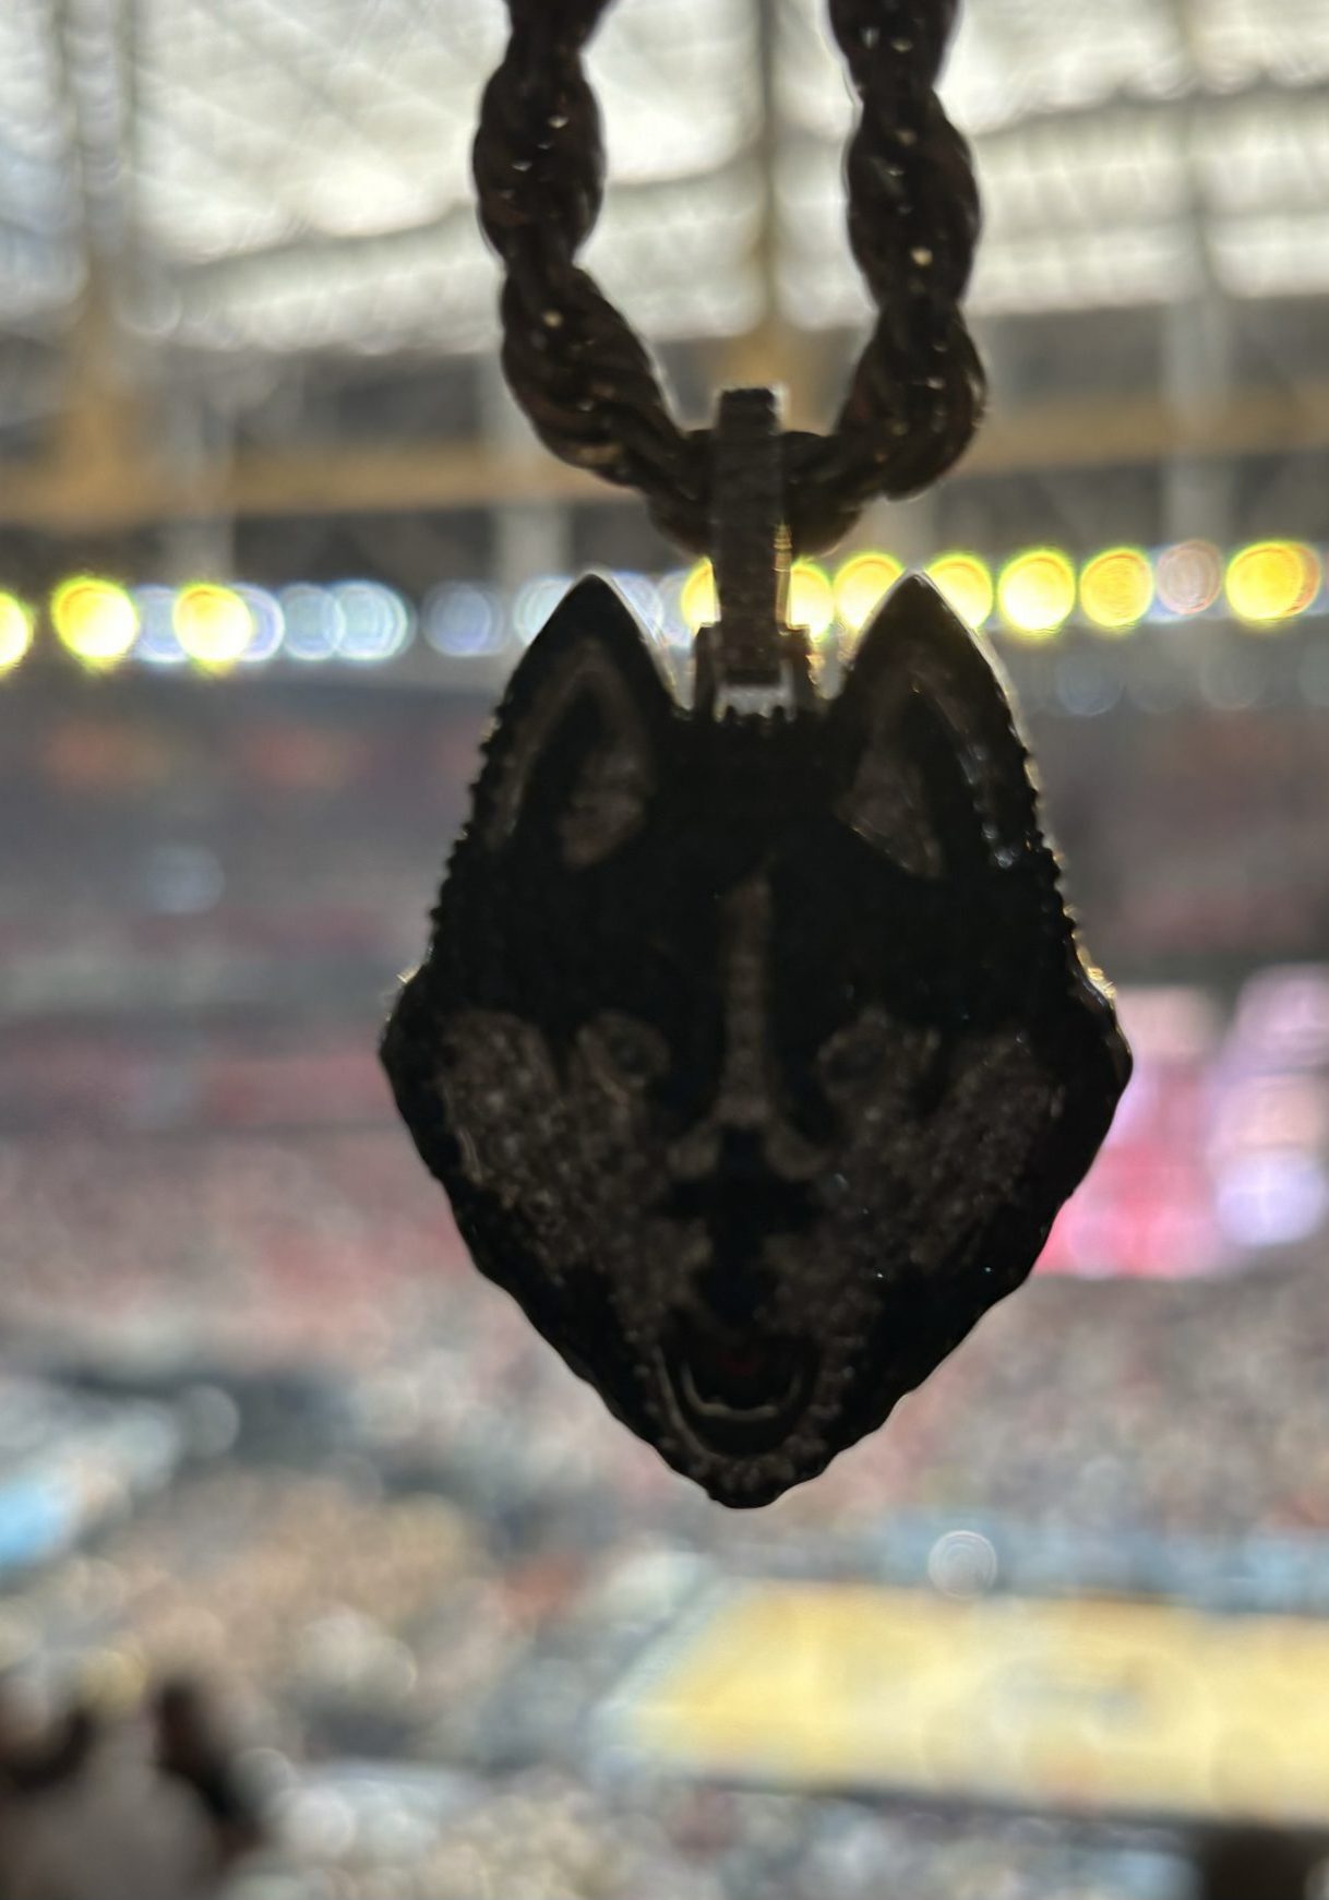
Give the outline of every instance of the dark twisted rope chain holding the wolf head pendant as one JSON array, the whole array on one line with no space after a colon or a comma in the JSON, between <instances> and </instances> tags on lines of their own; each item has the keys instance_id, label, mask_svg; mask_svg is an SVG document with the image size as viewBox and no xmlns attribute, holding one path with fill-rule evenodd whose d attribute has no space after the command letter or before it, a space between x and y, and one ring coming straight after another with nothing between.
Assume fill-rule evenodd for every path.
<instances>
[{"instance_id":1,"label":"dark twisted rope chain holding the wolf head pendant","mask_svg":"<svg viewBox=\"0 0 1329 1900\"><path fill-rule=\"evenodd\" d=\"M509 0L511 38L475 139L480 224L505 268L503 369L564 462L640 488L683 547L710 543L710 431L683 429L640 338L577 264L604 198L581 53L611 0ZM832 545L877 494L963 454L985 382L961 298L978 243L964 139L936 97L959 0L830 0L862 112L847 150L849 243L877 319L830 435L784 437L796 551Z\"/></svg>"}]
</instances>

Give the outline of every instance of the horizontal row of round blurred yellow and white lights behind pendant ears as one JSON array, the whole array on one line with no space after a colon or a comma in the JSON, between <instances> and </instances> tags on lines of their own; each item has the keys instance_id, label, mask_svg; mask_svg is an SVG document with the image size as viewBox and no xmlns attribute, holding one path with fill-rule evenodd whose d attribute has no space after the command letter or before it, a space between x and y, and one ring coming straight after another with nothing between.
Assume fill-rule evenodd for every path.
<instances>
[{"instance_id":1,"label":"horizontal row of round blurred yellow and white lights behind pendant ears","mask_svg":"<svg viewBox=\"0 0 1329 1900\"><path fill-rule=\"evenodd\" d=\"M790 576L790 621L807 627L814 642L852 638L902 572L900 560L879 551L852 555L833 574L799 560ZM1078 564L1058 547L1031 547L997 568L974 553L945 553L925 572L970 627L1035 644L1069 623L1128 635L1145 623L1204 616L1276 631L1325 604L1323 560L1304 542L1255 542L1226 559L1207 542L1152 553L1109 547ZM613 580L672 648L685 650L697 627L716 618L706 560L659 580ZM216 581L122 587L80 574L55 587L46 621L55 640L95 671L133 659L226 673L277 656L365 667L393 659L418 631L437 652L459 659L503 652L515 640L528 644L566 587L562 576L541 576L505 604L494 587L448 581L416 610L397 589L368 580L270 591ZM28 654L38 625L30 602L0 593L0 671Z\"/></svg>"}]
</instances>

